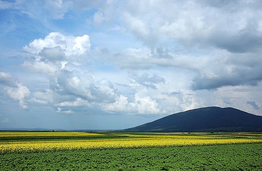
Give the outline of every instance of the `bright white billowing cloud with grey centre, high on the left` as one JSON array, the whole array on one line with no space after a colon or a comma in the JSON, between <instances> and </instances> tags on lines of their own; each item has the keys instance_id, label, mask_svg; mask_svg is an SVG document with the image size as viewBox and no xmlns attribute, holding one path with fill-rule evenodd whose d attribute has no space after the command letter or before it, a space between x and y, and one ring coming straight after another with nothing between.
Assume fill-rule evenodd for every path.
<instances>
[{"instance_id":1,"label":"bright white billowing cloud with grey centre, high on the left","mask_svg":"<svg viewBox=\"0 0 262 171\"><path fill-rule=\"evenodd\" d=\"M81 65L86 62L90 46L88 35L73 37L52 32L24 47L32 57L23 66L30 71L57 76L68 63Z\"/></svg>"}]
</instances>

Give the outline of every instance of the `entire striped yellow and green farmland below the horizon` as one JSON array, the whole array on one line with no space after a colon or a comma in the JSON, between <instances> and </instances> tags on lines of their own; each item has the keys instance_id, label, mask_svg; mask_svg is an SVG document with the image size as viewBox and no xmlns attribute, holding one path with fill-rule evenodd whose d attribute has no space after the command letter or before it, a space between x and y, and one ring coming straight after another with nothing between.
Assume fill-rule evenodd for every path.
<instances>
[{"instance_id":1,"label":"entire striped yellow and green farmland below the horizon","mask_svg":"<svg viewBox=\"0 0 262 171\"><path fill-rule=\"evenodd\" d=\"M262 134L0 132L3 170L261 170Z\"/></svg>"}]
</instances>

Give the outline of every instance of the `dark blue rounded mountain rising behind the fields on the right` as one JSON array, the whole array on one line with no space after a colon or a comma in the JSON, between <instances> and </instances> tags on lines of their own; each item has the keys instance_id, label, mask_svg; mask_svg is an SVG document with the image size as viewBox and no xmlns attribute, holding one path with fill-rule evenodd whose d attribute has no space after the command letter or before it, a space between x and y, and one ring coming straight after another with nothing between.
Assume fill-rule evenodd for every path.
<instances>
[{"instance_id":1,"label":"dark blue rounded mountain rising behind the fields on the right","mask_svg":"<svg viewBox=\"0 0 262 171\"><path fill-rule=\"evenodd\" d=\"M126 132L243 132L262 131L262 116L234 108L206 107L180 112Z\"/></svg>"}]
</instances>

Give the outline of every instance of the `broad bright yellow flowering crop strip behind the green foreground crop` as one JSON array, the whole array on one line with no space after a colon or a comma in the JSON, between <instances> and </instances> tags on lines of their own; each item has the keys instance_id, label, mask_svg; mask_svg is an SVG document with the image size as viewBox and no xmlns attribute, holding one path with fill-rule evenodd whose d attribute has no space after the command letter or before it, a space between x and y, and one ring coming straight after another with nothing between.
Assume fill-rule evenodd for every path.
<instances>
[{"instance_id":1,"label":"broad bright yellow flowering crop strip behind the green foreground crop","mask_svg":"<svg viewBox=\"0 0 262 171\"><path fill-rule=\"evenodd\" d=\"M38 133L37 133L38 134ZM66 133L65 133L66 134ZM73 133L69 133L73 134ZM77 133L78 134L78 133ZM86 133L89 134L89 133ZM30 134L33 136L32 134ZM99 134L101 135L101 134ZM150 147L150 146L184 146L184 145L214 145L232 143L262 143L261 137L221 137L196 135L134 135L127 138L84 139L84 140L44 140L44 141L0 141L0 152L5 151L46 151L67 149Z\"/></svg>"}]
</instances>

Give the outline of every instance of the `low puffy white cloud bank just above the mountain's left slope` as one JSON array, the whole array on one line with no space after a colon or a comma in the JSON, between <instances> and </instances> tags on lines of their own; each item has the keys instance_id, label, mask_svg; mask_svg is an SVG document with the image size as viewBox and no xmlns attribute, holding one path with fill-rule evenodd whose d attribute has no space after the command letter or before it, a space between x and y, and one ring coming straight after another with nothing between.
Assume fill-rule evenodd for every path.
<instances>
[{"instance_id":1,"label":"low puffy white cloud bank just above the mountain's left slope","mask_svg":"<svg viewBox=\"0 0 262 171\"><path fill-rule=\"evenodd\" d=\"M168 89L163 89L167 91ZM127 95L128 96L128 95ZM131 97L120 95L114 103L101 105L102 110L127 114L172 114L204 106L204 100L193 91L180 89L177 92L138 88Z\"/></svg>"}]
</instances>

